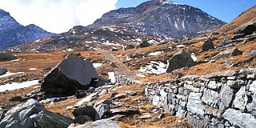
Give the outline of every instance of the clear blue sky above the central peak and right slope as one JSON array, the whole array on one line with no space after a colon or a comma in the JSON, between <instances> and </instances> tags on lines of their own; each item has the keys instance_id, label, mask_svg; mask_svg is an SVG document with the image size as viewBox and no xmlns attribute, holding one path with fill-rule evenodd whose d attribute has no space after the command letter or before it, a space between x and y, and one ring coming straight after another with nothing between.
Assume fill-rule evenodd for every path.
<instances>
[{"instance_id":1,"label":"clear blue sky above the central peak and right slope","mask_svg":"<svg viewBox=\"0 0 256 128\"><path fill-rule=\"evenodd\" d=\"M118 0L117 8L138 6L148 0ZM230 22L244 10L256 5L256 0L172 0L205 11L224 22Z\"/></svg>"}]
</instances>

